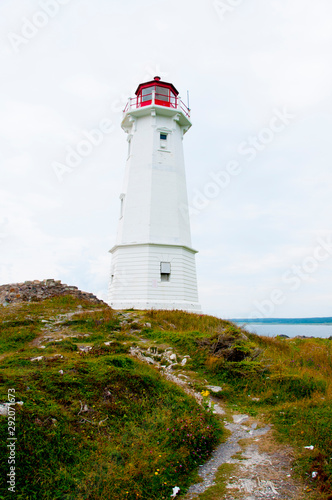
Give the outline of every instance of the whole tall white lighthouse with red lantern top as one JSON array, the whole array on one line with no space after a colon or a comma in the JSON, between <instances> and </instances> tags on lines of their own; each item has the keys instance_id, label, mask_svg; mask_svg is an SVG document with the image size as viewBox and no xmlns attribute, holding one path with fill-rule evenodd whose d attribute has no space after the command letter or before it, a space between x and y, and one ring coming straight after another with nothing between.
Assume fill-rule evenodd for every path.
<instances>
[{"instance_id":1,"label":"whole tall white lighthouse with red lantern top","mask_svg":"<svg viewBox=\"0 0 332 500\"><path fill-rule=\"evenodd\" d=\"M121 123L128 154L110 250L109 303L114 309L199 312L182 145L190 110L174 85L158 76L135 94Z\"/></svg>"}]
</instances>

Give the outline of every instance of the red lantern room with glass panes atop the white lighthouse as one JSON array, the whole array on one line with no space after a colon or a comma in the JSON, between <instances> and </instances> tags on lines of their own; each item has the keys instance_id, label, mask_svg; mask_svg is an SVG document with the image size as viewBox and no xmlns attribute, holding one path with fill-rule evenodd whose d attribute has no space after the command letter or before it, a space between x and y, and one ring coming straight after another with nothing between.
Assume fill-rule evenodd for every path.
<instances>
[{"instance_id":1,"label":"red lantern room with glass panes atop the white lighthouse","mask_svg":"<svg viewBox=\"0 0 332 500\"><path fill-rule=\"evenodd\" d=\"M168 108L177 108L179 92L172 83L162 82L159 76L155 76L150 82L141 83L135 94L138 108L149 106L152 103Z\"/></svg>"}]
</instances>

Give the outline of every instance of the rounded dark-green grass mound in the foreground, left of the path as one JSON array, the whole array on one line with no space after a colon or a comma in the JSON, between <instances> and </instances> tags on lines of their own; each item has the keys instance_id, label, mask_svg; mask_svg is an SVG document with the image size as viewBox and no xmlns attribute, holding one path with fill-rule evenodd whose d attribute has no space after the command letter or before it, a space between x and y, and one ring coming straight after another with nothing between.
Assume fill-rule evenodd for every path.
<instances>
[{"instance_id":1,"label":"rounded dark-green grass mound in the foreground, left of the path","mask_svg":"<svg viewBox=\"0 0 332 500\"><path fill-rule=\"evenodd\" d=\"M188 484L217 442L211 415L125 355L90 358L4 379L24 401L17 498L166 498Z\"/></svg>"}]
</instances>

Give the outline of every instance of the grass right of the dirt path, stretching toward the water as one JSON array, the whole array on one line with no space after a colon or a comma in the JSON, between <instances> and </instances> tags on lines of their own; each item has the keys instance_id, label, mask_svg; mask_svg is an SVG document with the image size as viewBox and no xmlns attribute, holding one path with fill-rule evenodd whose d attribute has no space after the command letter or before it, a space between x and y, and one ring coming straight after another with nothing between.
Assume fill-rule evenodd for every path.
<instances>
[{"instance_id":1,"label":"grass right of the dirt path, stretching toward the water","mask_svg":"<svg viewBox=\"0 0 332 500\"><path fill-rule=\"evenodd\" d=\"M319 498L331 500L331 340L260 337L217 318L204 316L200 323L200 316L190 316L149 311L146 336L190 354L188 369L221 385L218 397L230 407L264 414L279 439L295 447L298 473L308 479L318 472L313 485ZM314 450L304 448L310 445Z\"/></svg>"}]
</instances>

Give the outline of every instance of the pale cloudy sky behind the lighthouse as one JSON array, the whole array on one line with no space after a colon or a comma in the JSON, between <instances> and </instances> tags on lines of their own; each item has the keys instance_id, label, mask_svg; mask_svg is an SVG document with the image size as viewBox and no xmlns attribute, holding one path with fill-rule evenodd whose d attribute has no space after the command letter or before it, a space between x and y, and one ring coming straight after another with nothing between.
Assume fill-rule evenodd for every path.
<instances>
[{"instance_id":1,"label":"pale cloudy sky behind the lighthouse","mask_svg":"<svg viewBox=\"0 0 332 500\"><path fill-rule=\"evenodd\" d=\"M0 284L107 299L122 109L159 75L189 91L203 312L331 316L331 16L330 0L2 0Z\"/></svg>"}]
</instances>

